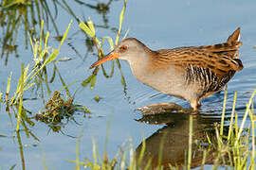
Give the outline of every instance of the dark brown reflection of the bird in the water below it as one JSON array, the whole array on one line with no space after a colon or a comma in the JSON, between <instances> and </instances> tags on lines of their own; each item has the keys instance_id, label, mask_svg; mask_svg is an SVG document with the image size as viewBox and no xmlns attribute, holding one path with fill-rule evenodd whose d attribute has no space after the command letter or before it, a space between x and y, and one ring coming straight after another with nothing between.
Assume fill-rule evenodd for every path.
<instances>
[{"instance_id":1,"label":"dark brown reflection of the bird in the water below it","mask_svg":"<svg viewBox=\"0 0 256 170\"><path fill-rule=\"evenodd\" d=\"M212 146L217 143L215 137L214 123L219 123L221 118L211 118L206 114L191 115L187 113L167 113L157 115L144 115L138 122L151 125L165 124L165 127L158 129L153 135L146 139L146 149L144 152L142 167L148 161L151 166L158 166L159 153L162 152L160 165L168 169L170 165L183 169L188 164L189 151L189 130L190 117L192 118L192 161L191 168L202 164L213 164L216 157L216 149ZM160 143L164 138L160 151ZM211 144L209 144L209 140ZM142 143L137 146L137 155L141 152Z\"/></svg>"}]
</instances>

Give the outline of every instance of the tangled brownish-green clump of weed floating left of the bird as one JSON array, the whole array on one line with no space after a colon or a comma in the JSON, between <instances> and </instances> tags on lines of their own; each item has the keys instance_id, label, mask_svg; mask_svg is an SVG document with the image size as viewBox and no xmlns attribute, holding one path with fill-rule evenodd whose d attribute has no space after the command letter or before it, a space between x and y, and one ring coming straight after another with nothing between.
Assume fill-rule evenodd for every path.
<instances>
[{"instance_id":1,"label":"tangled brownish-green clump of weed floating left of the bird","mask_svg":"<svg viewBox=\"0 0 256 170\"><path fill-rule=\"evenodd\" d=\"M59 91L55 91L52 97L46 103L45 110L42 113L35 115L37 121L42 121L46 124L60 124L64 118L69 118L76 110L73 105L73 97L64 100Z\"/></svg>"}]
</instances>

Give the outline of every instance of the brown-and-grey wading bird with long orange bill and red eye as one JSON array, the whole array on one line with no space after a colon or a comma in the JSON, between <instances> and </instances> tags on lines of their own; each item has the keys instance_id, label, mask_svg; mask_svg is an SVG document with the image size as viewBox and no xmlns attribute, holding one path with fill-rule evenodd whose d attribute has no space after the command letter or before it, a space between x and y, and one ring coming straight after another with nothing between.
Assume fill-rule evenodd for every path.
<instances>
[{"instance_id":1,"label":"brown-and-grey wading bird with long orange bill and red eye","mask_svg":"<svg viewBox=\"0 0 256 170\"><path fill-rule=\"evenodd\" d=\"M124 59L137 80L160 93L188 101L197 111L200 101L220 92L244 68L239 59L240 27L226 42L152 50L136 38L126 38L90 69L111 59Z\"/></svg>"}]
</instances>

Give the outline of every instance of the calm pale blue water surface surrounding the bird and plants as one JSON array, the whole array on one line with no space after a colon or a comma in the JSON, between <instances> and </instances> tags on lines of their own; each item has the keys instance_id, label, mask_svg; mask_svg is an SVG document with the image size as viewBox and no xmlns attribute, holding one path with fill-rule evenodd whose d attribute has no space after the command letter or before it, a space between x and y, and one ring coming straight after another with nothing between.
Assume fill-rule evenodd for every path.
<instances>
[{"instance_id":1,"label":"calm pale blue water surface surrounding the bird and plants","mask_svg":"<svg viewBox=\"0 0 256 170\"><path fill-rule=\"evenodd\" d=\"M90 5L96 5L95 2L86 2ZM104 2L107 3L107 2ZM68 1L69 7L73 10L76 17L88 18L97 25L104 26L102 15L95 9L88 6L80 5L74 1ZM108 19L107 26L109 28L97 28L99 37L111 36L115 37L116 32L111 30L112 27L119 26L119 12L122 8L122 1L112 1L109 6L109 12L106 13ZM54 11L53 4L48 4L51 11ZM240 57L244 63L244 70L237 72L229 81L229 93L227 107L230 110L234 91L238 91L237 108L239 116L243 116L245 105L250 97L250 93L256 87L256 45L255 35L256 25L253 18L256 17L255 1L129 1L123 21L123 30L129 29L128 37L136 37L144 42L152 49L172 48L176 46L187 45L203 45L218 42L225 42L238 26L241 26L242 41L244 42L240 48ZM137 122L141 115L134 111L137 107L155 104L159 102L175 102L181 106L189 107L186 101L176 99L172 96L157 94L150 87L138 82L132 75L128 63L120 61L121 69L125 81L127 83L127 91L124 93L124 87L121 83L119 69L116 67L115 74L111 78L105 78L100 71L97 76L96 86L94 89L82 87L82 80L91 75L89 66L97 60L96 56L88 53L85 44L85 36L80 31L78 23L64 8L57 5L58 14L55 18L56 25L60 34L64 33L70 20L73 20L68 37L64 41L61 48L61 54L58 57L71 58L69 61L57 62L57 67L64 78L66 84L76 82L69 86L71 94L76 93L75 103L85 106L91 110L90 118L83 117L82 114L76 113L75 120L69 121L65 125L62 132L53 132L40 122L35 122L34 127L29 129L40 139L40 142L32 138L27 138L26 134L21 132L21 140L23 144L23 152L27 169L44 169L44 159L46 165L56 167L56 169L71 169L75 164L65 161L76 159L77 138L82 129L81 158L92 158L92 138L94 138L99 146L99 152L103 153L105 144L105 135L108 122L111 120L111 126L108 133L107 153L113 158L119 151L119 146L127 139L133 139L133 144L137 147L142 136L146 139L152 136L155 131L164 127L162 125L149 125ZM54 13L54 12L53 12ZM4 30L0 28L1 32ZM38 30L38 27L36 27ZM49 22L50 39L49 44L57 47L59 42L54 39L56 31L52 22ZM123 31L123 33L124 33ZM33 64L31 48L25 48L25 27L21 26L18 30L16 44L18 58L15 53L9 54L8 63L5 64L5 57L0 61L0 89L5 92L7 87L7 78L12 72L12 82L10 91L15 91L18 77L20 76L21 63L25 62ZM122 34L123 35L123 34ZM3 47L3 37L0 38L1 50ZM104 47L108 52L108 46ZM96 51L94 51L96 52ZM107 73L110 73L110 63L105 63ZM52 65L48 67L49 77L52 75ZM56 77L50 84L51 91L60 90L63 87L59 77ZM218 93L203 100L202 111L213 111L218 114L222 110L223 93ZM46 89L45 89L46 95ZM96 102L94 97L101 96L100 102ZM26 93L25 97L38 97L37 100L27 100L24 107L32 112L32 115L38 113L44 107L39 93ZM46 100L48 97L46 96ZM217 116L219 117L219 116ZM184 117L180 117L183 119ZM187 120L185 117L184 120ZM0 113L0 167L9 169L16 164L15 169L21 169L21 157L19 154L19 144L14 130L16 126L16 118L11 115L11 119L7 111L5 111L5 103L1 106ZM196 121L197 122L197 121ZM241 119L240 119L241 122ZM179 123L173 122L174 125ZM199 123L198 123L199 124ZM185 127L184 127L185 129ZM181 132L179 132L181 133ZM1 169L0 168L0 169Z\"/></svg>"}]
</instances>

